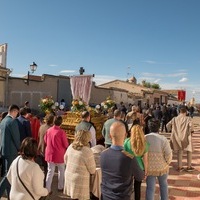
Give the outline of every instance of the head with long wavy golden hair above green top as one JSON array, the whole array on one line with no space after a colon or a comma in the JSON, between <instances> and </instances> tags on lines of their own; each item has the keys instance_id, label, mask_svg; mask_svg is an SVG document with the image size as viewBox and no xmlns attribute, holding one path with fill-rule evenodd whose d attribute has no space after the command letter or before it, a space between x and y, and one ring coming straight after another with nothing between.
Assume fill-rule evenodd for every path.
<instances>
[{"instance_id":1,"label":"head with long wavy golden hair above green top","mask_svg":"<svg viewBox=\"0 0 200 200\"><path fill-rule=\"evenodd\" d=\"M145 137L142 127L138 124L131 128L131 149L137 156L142 156L145 151Z\"/></svg>"}]
</instances>

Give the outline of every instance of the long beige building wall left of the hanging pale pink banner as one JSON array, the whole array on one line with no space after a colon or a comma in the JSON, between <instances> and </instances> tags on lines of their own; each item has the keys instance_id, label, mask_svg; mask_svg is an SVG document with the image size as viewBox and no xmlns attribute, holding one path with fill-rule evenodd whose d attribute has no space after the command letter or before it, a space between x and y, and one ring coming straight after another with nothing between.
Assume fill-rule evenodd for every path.
<instances>
[{"instance_id":1,"label":"long beige building wall left of the hanging pale pink banner","mask_svg":"<svg viewBox=\"0 0 200 200\"><path fill-rule=\"evenodd\" d=\"M64 98L68 104L71 103L69 78L45 75L41 81L30 80L27 85L24 79L10 77L8 88L8 105L17 104L21 107L25 101L29 101L30 107L38 110L40 99L45 96L52 96L58 102Z\"/></svg>"}]
</instances>

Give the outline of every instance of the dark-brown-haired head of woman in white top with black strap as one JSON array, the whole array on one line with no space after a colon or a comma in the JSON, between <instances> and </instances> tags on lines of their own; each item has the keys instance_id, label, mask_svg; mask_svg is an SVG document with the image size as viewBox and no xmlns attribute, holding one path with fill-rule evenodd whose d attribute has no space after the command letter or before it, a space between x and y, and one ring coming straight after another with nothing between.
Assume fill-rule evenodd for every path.
<instances>
[{"instance_id":1,"label":"dark-brown-haired head of woman in white top with black strap","mask_svg":"<svg viewBox=\"0 0 200 200\"><path fill-rule=\"evenodd\" d=\"M22 141L20 155L23 159L33 159L37 155L37 141L27 137Z\"/></svg>"}]
</instances>

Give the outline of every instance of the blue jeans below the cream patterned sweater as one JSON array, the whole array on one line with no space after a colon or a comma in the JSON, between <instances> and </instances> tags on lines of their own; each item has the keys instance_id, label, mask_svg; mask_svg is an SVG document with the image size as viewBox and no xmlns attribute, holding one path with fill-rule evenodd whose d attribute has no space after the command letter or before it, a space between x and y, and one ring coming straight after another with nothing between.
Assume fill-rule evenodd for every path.
<instances>
[{"instance_id":1,"label":"blue jeans below the cream patterned sweater","mask_svg":"<svg viewBox=\"0 0 200 200\"><path fill-rule=\"evenodd\" d=\"M164 174L162 176L147 176L146 200L154 200L156 178L158 179L160 187L160 199L168 200L167 176L168 174Z\"/></svg>"}]
</instances>

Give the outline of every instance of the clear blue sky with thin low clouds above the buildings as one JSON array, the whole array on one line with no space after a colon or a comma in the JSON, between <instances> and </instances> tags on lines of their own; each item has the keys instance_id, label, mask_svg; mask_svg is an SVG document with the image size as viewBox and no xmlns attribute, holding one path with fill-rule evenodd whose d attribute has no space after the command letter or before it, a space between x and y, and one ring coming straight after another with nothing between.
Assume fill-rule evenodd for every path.
<instances>
[{"instance_id":1,"label":"clear blue sky with thin low clouds above the buildings","mask_svg":"<svg viewBox=\"0 0 200 200\"><path fill-rule=\"evenodd\" d=\"M24 76L75 75L97 85L134 75L200 102L199 0L1 0L0 44Z\"/></svg>"}]
</instances>

